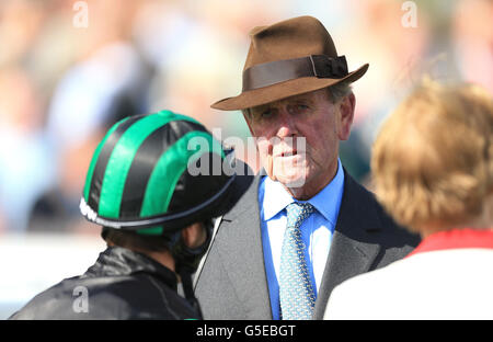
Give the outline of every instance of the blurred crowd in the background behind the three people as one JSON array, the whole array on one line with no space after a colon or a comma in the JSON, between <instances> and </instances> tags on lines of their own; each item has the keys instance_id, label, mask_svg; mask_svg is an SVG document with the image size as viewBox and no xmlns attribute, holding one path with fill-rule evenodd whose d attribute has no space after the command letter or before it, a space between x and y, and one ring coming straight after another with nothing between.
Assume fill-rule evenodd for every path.
<instances>
[{"instance_id":1,"label":"blurred crowd in the background behind the three people","mask_svg":"<svg viewBox=\"0 0 493 342\"><path fill-rule=\"evenodd\" d=\"M370 65L353 86L355 123L341 147L365 182L379 124L424 73L493 92L493 1L408 1L414 26L403 24L404 2L0 1L0 236L98 235L78 209L85 171L127 115L170 109L245 139L239 112L209 105L240 92L253 26L303 14L324 23L349 70Z\"/></svg>"}]
</instances>

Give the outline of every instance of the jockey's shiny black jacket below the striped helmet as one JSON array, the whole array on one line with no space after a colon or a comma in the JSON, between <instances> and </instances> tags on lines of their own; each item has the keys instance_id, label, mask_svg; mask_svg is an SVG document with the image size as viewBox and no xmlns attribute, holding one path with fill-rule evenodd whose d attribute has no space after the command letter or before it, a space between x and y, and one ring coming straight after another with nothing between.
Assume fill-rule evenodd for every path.
<instances>
[{"instance_id":1,"label":"jockey's shiny black jacket below the striped helmet","mask_svg":"<svg viewBox=\"0 0 493 342\"><path fill-rule=\"evenodd\" d=\"M176 289L168 267L112 247L83 275L38 294L9 319L202 319Z\"/></svg>"}]
</instances>

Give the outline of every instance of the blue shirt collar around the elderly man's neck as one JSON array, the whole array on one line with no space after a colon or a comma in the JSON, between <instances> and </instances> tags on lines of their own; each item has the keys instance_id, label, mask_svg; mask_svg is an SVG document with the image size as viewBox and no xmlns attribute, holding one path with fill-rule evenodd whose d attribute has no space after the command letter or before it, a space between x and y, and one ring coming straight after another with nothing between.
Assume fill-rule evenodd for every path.
<instances>
[{"instance_id":1,"label":"blue shirt collar around the elderly man's neck","mask_svg":"<svg viewBox=\"0 0 493 342\"><path fill-rule=\"evenodd\" d=\"M268 176L264 181L264 201L263 201L263 217L270 220L282 212L287 205L296 200L284 189L283 184L271 180ZM337 159L337 173L334 179L325 185L317 195L311 197L308 202L316 207L316 209L323 215L323 217L335 226L337 220L337 203L340 203L344 187L344 170L341 160ZM267 204L267 205L266 205Z\"/></svg>"}]
</instances>

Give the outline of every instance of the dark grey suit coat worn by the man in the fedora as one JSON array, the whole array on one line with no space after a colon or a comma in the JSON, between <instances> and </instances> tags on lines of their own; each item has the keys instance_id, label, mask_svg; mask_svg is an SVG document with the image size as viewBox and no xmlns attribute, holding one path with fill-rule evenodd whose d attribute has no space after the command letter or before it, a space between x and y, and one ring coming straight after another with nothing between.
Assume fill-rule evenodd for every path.
<instances>
[{"instance_id":1,"label":"dark grey suit coat worn by the man in the fedora","mask_svg":"<svg viewBox=\"0 0 493 342\"><path fill-rule=\"evenodd\" d=\"M332 289L343 281L405 256L419 238L383 213L374 195L345 172L344 195L316 303L322 319ZM264 266L255 176L226 214L200 272L195 293L205 319L272 319Z\"/></svg>"}]
</instances>

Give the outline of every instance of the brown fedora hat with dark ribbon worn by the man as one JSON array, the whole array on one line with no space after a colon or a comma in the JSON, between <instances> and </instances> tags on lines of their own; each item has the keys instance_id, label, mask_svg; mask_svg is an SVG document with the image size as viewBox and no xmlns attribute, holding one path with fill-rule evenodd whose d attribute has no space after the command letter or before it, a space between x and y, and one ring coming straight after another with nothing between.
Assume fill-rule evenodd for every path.
<instances>
[{"instance_id":1,"label":"brown fedora hat with dark ribbon worn by the man","mask_svg":"<svg viewBox=\"0 0 493 342\"><path fill-rule=\"evenodd\" d=\"M244 110L335 83L354 82L368 64L347 71L344 56L313 16L298 16L250 32L251 44L243 68L241 94L211 105L222 111Z\"/></svg>"}]
</instances>

